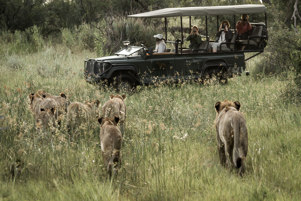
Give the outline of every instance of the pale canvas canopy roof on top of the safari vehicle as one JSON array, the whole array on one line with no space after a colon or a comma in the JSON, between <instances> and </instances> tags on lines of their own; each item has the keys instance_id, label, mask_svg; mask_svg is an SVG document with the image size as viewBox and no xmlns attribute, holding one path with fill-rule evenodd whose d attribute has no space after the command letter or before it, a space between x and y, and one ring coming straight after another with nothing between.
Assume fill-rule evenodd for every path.
<instances>
[{"instance_id":1,"label":"pale canvas canopy roof on top of the safari vehicle","mask_svg":"<svg viewBox=\"0 0 301 201\"><path fill-rule=\"evenodd\" d=\"M232 6L205 6L185 8L164 8L156 11L128 15L128 17L179 17L200 15L227 15L265 13L265 5L232 5Z\"/></svg>"}]
</instances>

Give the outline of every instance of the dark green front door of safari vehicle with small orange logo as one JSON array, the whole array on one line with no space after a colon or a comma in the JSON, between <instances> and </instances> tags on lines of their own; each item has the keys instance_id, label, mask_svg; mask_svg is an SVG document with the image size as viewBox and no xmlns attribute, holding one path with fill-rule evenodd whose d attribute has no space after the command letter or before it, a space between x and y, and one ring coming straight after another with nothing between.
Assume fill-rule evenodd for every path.
<instances>
[{"instance_id":1,"label":"dark green front door of safari vehicle with small orange logo","mask_svg":"<svg viewBox=\"0 0 301 201\"><path fill-rule=\"evenodd\" d=\"M175 76L175 57L173 52L147 55L146 67L152 79L155 77L165 79Z\"/></svg>"}]
</instances>

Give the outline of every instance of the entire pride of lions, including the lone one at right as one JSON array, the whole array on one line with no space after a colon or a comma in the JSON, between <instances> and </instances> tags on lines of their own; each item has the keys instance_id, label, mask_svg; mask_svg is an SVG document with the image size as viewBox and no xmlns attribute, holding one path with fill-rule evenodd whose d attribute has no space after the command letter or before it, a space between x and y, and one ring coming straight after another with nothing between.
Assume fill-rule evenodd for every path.
<instances>
[{"instance_id":1,"label":"entire pride of lions, including the lone one at right","mask_svg":"<svg viewBox=\"0 0 301 201\"><path fill-rule=\"evenodd\" d=\"M109 175L112 169L114 174L118 173L122 133L126 123L126 95L111 94L101 109L102 117L98 117L99 100L71 103L65 93L52 96L42 90L38 90L36 94L31 93L28 97L36 127L42 130L49 126L54 127L55 122L60 123L63 114L67 114L68 127L76 127L91 119L97 119L101 125L100 142L104 167ZM228 164L229 168L239 168L239 175L242 176L248 152L248 132L244 115L239 111L240 102L216 102L215 109L214 123L220 161L222 165Z\"/></svg>"}]
</instances>

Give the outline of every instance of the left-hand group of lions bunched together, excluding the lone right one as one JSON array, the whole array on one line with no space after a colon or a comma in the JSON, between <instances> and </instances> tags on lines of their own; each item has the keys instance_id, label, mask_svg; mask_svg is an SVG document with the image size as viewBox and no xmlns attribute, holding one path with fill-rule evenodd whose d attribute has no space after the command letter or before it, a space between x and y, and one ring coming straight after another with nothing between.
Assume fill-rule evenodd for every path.
<instances>
[{"instance_id":1,"label":"left-hand group of lions bunched together, excluding the lone right one","mask_svg":"<svg viewBox=\"0 0 301 201\"><path fill-rule=\"evenodd\" d=\"M52 96L49 93L38 90L30 93L29 107L36 121L36 128L40 131L55 128L64 119L67 119L68 130L88 124L97 119L101 125L100 141L104 160L104 167L111 175L118 173L121 162L122 134L126 123L126 95L110 95L110 99L104 103L99 117L100 101L70 102L65 93ZM117 124L120 124L120 130Z\"/></svg>"}]
</instances>

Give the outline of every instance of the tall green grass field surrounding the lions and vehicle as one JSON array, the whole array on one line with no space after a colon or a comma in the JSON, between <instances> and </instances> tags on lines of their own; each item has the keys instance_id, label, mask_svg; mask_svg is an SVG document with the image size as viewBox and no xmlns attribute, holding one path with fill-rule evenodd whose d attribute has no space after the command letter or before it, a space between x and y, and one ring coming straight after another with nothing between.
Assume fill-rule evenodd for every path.
<instances>
[{"instance_id":1,"label":"tall green grass field surrounding the lions and vehicle","mask_svg":"<svg viewBox=\"0 0 301 201\"><path fill-rule=\"evenodd\" d=\"M2 46L3 47L3 46ZM298 200L301 197L300 106L281 96L285 79L252 75L260 56L247 63L251 76L228 85L183 83L141 87L126 94L127 124L119 175L103 170L96 119L70 142L66 121L54 132L35 129L28 94L43 89L71 101L109 99L110 90L83 77L84 59L48 45L36 53L0 56L0 200ZM214 104L240 101L249 151L243 178L223 168L217 154ZM17 159L22 173L12 177Z\"/></svg>"}]
</instances>

